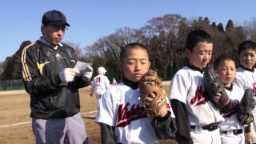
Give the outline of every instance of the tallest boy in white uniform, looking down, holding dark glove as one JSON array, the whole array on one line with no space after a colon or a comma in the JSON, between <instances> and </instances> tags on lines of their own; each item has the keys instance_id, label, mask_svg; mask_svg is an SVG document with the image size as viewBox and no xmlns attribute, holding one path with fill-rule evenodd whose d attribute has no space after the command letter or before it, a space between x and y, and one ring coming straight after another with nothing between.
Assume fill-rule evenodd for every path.
<instances>
[{"instance_id":1,"label":"tallest boy in white uniform, looking down, holding dark glove","mask_svg":"<svg viewBox=\"0 0 256 144\"><path fill-rule=\"evenodd\" d=\"M194 30L186 38L185 54L189 63L174 75L170 83L170 102L178 126L180 144L219 144L219 123L224 118L203 92L203 68L210 62L213 41L210 34Z\"/></svg>"}]
</instances>

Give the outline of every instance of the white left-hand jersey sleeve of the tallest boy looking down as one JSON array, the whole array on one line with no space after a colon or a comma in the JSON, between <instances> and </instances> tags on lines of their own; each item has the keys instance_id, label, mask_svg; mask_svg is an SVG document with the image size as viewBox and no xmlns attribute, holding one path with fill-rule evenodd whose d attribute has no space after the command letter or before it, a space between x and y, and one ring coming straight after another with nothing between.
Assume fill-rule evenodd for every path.
<instances>
[{"instance_id":1,"label":"white left-hand jersey sleeve of the tallest boy looking down","mask_svg":"<svg viewBox=\"0 0 256 144\"><path fill-rule=\"evenodd\" d=\"M174 78L172 78L170 83L170 99L177 99L180 102L183 102L186 104L186 96L188 91L187 83L189 81L189 78L185 78L186 74L182 74L182 72L179 72L174 75Z\"/></svg>"}]
</instances>

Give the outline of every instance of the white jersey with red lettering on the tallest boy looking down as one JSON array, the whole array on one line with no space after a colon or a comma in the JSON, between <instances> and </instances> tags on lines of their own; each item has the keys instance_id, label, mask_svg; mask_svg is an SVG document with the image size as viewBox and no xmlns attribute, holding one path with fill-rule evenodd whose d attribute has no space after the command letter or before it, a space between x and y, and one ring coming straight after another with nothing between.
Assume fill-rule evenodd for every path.
<instances>
[{"instance_id":1,"label":"white jersey with red lettering on the tallest boy looking down","mask_svg":"<svg viewBox=\"0 0 256 144\"><path fill-rule=\"evenodd\" d=\"M169 98L186 104L190 125L224 122L219 110L206 101L203 89L202 73L184 66L172 78Z\"/></svg>"}]
</instances>

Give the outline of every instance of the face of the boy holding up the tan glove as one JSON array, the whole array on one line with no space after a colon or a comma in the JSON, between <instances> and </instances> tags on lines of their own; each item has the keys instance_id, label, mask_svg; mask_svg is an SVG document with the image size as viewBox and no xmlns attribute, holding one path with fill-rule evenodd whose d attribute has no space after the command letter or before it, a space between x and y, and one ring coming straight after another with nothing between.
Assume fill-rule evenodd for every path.
<instances>
[{"instance_id":1,"label":"face of the boy holding up the tan glove","mask_svg":"<svg viewBox=\"0 0 256 144\"><path fill-rule=\"evenodd\" d=\"M122 59L121 70L124 76L132 82L138 82L149 69L149 56L142 48L135 47L128 50L126 58Z\"/></svg>"}]
</instances>

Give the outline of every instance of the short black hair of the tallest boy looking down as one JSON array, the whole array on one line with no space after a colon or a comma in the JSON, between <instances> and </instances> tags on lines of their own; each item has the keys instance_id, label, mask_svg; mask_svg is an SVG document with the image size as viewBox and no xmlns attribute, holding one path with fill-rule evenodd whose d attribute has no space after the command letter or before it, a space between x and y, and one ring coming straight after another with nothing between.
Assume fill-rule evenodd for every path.
<instances>
[{"instance_id":1,"label":"short black hair of the tallest boy looking down","mask_svg":"<svg viewBox=\"0 0 256 144\"><path fill-rule=\"evenodd\" d=\"M186 38L186 49L192 51L199 42L213 43L213 39L204 30L193 30Z\"/></svg>"}]
</instances>

